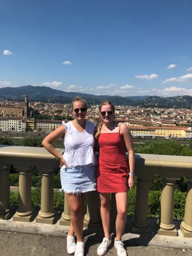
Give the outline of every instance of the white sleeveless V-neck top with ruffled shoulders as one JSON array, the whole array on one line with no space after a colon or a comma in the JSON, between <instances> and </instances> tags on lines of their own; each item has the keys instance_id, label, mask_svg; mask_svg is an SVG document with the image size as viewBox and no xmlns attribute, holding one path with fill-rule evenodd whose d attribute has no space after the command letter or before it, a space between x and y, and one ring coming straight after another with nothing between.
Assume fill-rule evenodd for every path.
<instances>
[{"instance_id":1,"label":"white sleeveless V-neck top with ruffled shoulders","mask_svg":"<svg viewBox=\"0 0 192 256\"><path fill-rule=\"evenodd\" d=\"M77 131L71 121L68 123L62 121L62 124L66 129L66 135L62 139L65 146L63 158L69 167L90 163L96 165L95 153L93 151L95 124L86 121L84 132Z\"/></svg>"}]
</instances>

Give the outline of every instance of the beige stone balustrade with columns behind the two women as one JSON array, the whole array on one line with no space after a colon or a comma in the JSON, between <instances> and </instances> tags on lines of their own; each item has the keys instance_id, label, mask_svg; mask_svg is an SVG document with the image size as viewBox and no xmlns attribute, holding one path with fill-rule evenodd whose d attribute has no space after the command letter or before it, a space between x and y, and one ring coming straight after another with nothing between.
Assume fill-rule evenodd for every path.
<instances>
[{"instance_id":1,"label":"beige stone balustrade with columns behind the two women","mask_svg":"<svg viewBox=\"0 0 192 256\"><path fill-rule=\"evenodd\" d=\"M63 150L58 150L62 154ZM34 210L31 203L31 166L41 169L41 206L37 223L54 224L56 210L54 209L53 169L59 167L59 160L49 154L45 148L0 146L0 220L8 220L11 216L10 207L10 166L19 169L19 203L13 215L13 221L30 222ZM176 180L185 176L187 183L187 198L184 221L180 230L184 237L192 238L192 158L182 156L136 155L137 190L135 215L132 220L132 231L135 233L151 232L148 223L148 195L150 178L161 175L163 188L161 207L157 224L158 234L177 236L173 221L174 189ZM100 202L97 191L88 195L87 212L84 216L84 227L94 227L100 223ZM112 194L111 223L115 223L117 215L115 196ZM70 208L65 198L65 207L59 220L60 225L70 225Z\"/></svg>"}]
</instances>

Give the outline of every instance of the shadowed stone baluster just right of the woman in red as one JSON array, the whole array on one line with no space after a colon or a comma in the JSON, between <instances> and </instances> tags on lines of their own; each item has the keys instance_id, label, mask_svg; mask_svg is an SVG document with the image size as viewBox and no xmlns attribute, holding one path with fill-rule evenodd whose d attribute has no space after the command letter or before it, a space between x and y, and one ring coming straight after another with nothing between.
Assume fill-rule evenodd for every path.
<instances>
[{"instance_id":1,"label":"shadowed stone baluster just right of the woman in red","mask_svg":"<svg viewBox=\"0 0 192 256\"><path fill-rule=\"evenodd\" d=\"M132 219L133 233L150 233L151 228L148 223L148 193L149 193L149 178L137 178L135 215Z\"/></svg>"}]
</instances>

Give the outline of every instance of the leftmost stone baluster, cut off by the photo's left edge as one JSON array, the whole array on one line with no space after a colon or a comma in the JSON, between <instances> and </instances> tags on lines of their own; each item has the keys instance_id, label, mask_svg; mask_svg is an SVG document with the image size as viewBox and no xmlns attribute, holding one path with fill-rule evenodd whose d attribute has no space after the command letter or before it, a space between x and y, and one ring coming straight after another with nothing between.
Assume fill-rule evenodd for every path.
<instances>
[{"instance_id":1,"label":"leftmost stone baluster, cut off by the photo's left edge","mask_svg":"<svg viewBox=\"0 0 192 256\"><path fill-rule=\"evenodd\" d=\"M0 220L8 220L10 212L9 167L0 168Z\"/></svg>"}]
</instances>

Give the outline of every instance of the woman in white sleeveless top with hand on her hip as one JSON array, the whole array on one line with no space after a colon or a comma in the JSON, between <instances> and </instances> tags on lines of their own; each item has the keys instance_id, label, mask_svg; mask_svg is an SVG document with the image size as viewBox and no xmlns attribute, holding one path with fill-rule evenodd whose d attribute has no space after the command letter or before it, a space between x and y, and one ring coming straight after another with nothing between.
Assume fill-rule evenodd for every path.
<instances>
[{"instance_id":1,"label":"woman in white sleeveless top with hand on her hip","mask_svg":"<svg viewBox=\"0 0 192 256\"><path fill-rule=\"evenodd\" d=\"M84 202L87 192L96 190L96 160L93 150L95 125L85 120L87 104L84 99L76 97L72 101L72 113L75 119L68 123L62 122L63 125L49 134L42 141L42 145L60 159L61 187L71 208L71 226L67 237L68 253L83 256ZM60 138L65 145L63 156L52 145Z\"/></svg>"}]
</instances>

